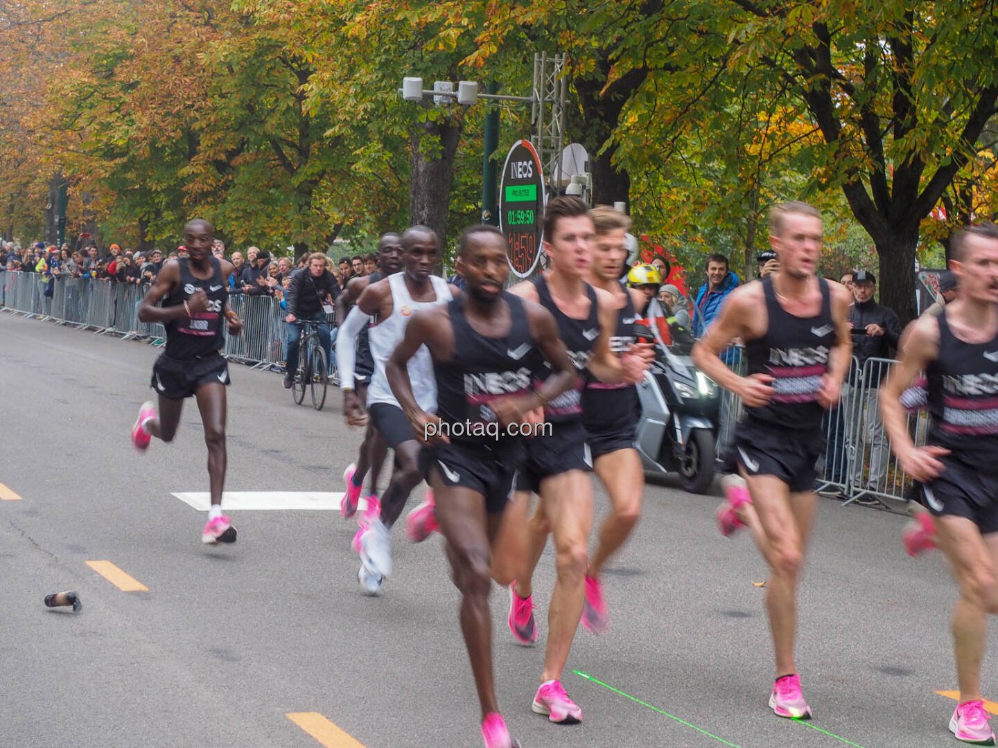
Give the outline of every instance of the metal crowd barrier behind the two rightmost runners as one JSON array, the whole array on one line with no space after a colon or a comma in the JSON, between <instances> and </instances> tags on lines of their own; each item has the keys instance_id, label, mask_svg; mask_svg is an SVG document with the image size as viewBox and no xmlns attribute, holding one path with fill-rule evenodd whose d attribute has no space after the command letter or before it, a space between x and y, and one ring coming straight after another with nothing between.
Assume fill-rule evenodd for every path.
<instances>
[{"instance_id":1,"label":"metal crowd barrier behind the two rightmost runners","mask_svg":"<svg viewBox=\"0 0 998 748\"><path fill-rule=\"evenodd\" d=\"M744 348L733 350L727 356L729 368L745 374ZM839 493L846 505L865 497L889 509L887 500L904 501L911 488L911 479L894 457L880 419L879 385L894 363L891 359L870 358L860 367L853 356L838 407L825 415L822 428L827 449L819 461L815 490ZM719 461L725 458L741 415L741 398L724 391L718 426ZM917 446L925 444L927 423L924 413L909 412L908 431Z\"/></svg>"}]
</instances>

